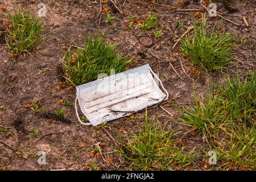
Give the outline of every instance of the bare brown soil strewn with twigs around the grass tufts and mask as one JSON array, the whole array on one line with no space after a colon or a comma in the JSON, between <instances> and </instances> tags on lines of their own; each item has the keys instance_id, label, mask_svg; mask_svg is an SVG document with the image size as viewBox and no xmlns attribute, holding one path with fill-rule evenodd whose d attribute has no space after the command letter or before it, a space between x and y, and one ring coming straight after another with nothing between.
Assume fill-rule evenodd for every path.
<instances>
[{"instance_id":1,"label":"bare brown soil strewn with twigs around the grass tufts and mask","mask_svg":"<svg viewBox=\"0 0 256 182\"><path fill-rule=\"evenodd\" d=\"M38 3L41 1L15 1L2 0L0 2L0 28L3 28L3 22L7 24L5 18L7 13L14 12L13 5L21 6L23 9L31 9L38 12ZM53 114L35 114L30 109L23 107L24 103L32 100L41 100L49 96L49 91L56 90L51 97L42 105L47 113L54 113L55 110L63 107L58 100L69 100L74 102L76 91L68 89L66 86L60 86L59 82L63 81L60 75L63 73L58 65L65 51L72 44L72 40L82 46L84 44L84 35L94 35L100 28L100 32L105 32L108 43L117 43L120 52L134 58L131 67L138 67L144 64L150 64L154 72L160 73L160 79L170 93L170 97L175 99L176 104L192 104L193 94L196 96L208 90L208 80L214 82L224 80L219 73L212 72L209 74L202 73L200 77L193 77L193 72L188 74L195 81L187 77L181 67L180 60L177 57L182 56L180 44L172 49L177 36L181 36L184 30L178 28L179 22L183 22L184 29L191 24L191 11L173 11L167 6L151 4L151 1L118 1L122 6L123 14L119 13L112 3L104 3L104 7L117 16L112 23L106 24L104 20L106 15L102 13L101 23L96 22L100 12L100 1L89 0L44 0L46 4L47 16L42 20L46 23L45 33L48 33L46 40L30 54L26 53L25 57L19 56L13 59L6 47L5 36L0 36L0 102L5 109L0 110L0 126L6 126L10 130L10 135L0 132L0 140L9 144L0 143L0 167L6 170L42 170L42 169L67 169L67 170L89 170L89 169L130 169L129 164L124 161L117 153L111 152L118 150L113 139L101 127L81 126L75 117L73 106L65 106L65 119L58 119ZM124 3L125 2L125 3ZM178 1L168 1L165 5L177 7ZM124 4L123 4L124 3ZM12 5L13 4L13 5ZM245 4L245 5L244 5ZM218 11L228 13L222 6L217 3ZM243 6L244 5L244 6ZM236 26L222 18L209 18L208 24L214 22L221 25L226 31L230 31L238 40L245 35L246 43L236 46L236 61L228 65L231 73L238 71L243 74L255 65L255 2L254 1L237 1L239 11L229 13L225 16L234 22L240 24ZM119 6L121 7L121 6ZM6 10L4 10L6 9ZM184 7L177 9L200 9L201 6L192 1ZM158 29L163 29L164 35L154 40L150 48L144 47L139 43L141 36L148 36L146 31L139 28L129 28L129 18L135 15L145 18L148 12L158 14ZM195 12L194 12L195 13ZM242 20L245 16L250 27ZM151 38L154 39L154 31L148 31ZM156 56L160 59L157 59ZM238 61L239 60L239 61ZM39 68L42 63L46 63L45 72ZM179 78L170 64L174 65L176 71L180 74ZM189 63L183 62L185 67L191 70ZM255 68L253 68L255 69ZM57 86L57 88L56 88ZM195 92L193 92L193 90ZM168 102L164 105L175 117L179 113L175 107ZM149 116L159 116L159 121L166 122L166 127L179 127L186 131L189 128L177 124L176 118L165 113L160 107L148 111ZM138 125L144 124L144 112L136 114L136 119L121 118L108 123L106 130L120 143L121 139L125 140L128 135L135 134ZM35 130L39 130L39 135L30 137L29 135ZM46 135L50 134L50 135ZM185 145L187 150L196 147L196 150L205 155L201 144L204 145L200 133L188 133L186 135ZM102 160L100 154L93 153L92 148L97 142L101 142L101 150L105 152L106 158L110 165ZM199 145L200 144L200 145ZM12 148L11 146L15 147ZM36 152L44 150L47 152L46 165L38 164ZM211 169L207 162L200 156L188 169Z\"/></svg>"}]
</instances>

